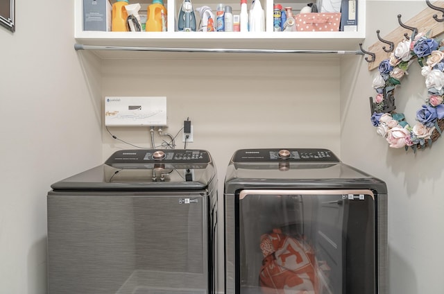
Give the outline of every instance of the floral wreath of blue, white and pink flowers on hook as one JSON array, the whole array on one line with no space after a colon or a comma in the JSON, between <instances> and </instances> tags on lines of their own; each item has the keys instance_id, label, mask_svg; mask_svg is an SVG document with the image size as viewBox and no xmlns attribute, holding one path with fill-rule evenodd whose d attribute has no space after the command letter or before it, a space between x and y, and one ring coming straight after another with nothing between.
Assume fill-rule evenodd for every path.
<instances>
[{"instance_id":1,"label":"floral wreath of blue, white and pink flowers on hook","mask_svg":"<svg viewBox=\"0 0 444 294\"><path fill-rule=\"evenodd\" d=\"M413 39L402 40L390 58L382 60L373 80L377 95L370 97L373 126L391 148L417 149L432 146L444 130L444 44L442 40L420 33ZM394 91L407 73L413 60L422 67L427 98L416 112L418 123L411 127L403 113L395 112Z\"/></svg>"}]
</instances>

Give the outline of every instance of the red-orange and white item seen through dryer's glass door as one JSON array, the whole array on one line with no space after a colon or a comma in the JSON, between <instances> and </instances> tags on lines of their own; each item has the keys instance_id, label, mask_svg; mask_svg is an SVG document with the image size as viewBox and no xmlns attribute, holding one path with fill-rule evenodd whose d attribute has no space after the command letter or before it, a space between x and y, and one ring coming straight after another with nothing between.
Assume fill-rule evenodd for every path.
<instances>
[{"instance_id":1,"label":"red-orange and white item seen through dryer's glass door","mask_svg":"<svg viewBox=\"0 0 444 294\"><path fill-rule=\"evenodd\" d=\"M259 274L262 293L318 294L314 249L274 229L261 237L264 259Z\"/></svg>"}]
</instances>

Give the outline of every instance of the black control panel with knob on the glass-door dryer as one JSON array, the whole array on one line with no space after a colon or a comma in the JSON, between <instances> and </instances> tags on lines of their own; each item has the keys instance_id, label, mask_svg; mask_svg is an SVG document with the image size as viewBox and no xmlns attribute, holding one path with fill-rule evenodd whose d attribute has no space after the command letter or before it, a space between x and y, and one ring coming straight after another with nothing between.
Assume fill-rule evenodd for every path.
<instances>
[{"instance_id":1,"label":"black control panel with knob on the glass-door dryer","mask_svg":"<svg viewBox=\"0 0 444 294\"><path fill-rule=\"evenodd\" d=\"M233 162L340 162L327 149L241 149L234 153Z\"/></svg>"}]
</instances>

